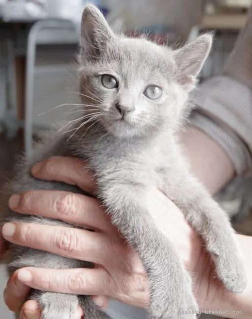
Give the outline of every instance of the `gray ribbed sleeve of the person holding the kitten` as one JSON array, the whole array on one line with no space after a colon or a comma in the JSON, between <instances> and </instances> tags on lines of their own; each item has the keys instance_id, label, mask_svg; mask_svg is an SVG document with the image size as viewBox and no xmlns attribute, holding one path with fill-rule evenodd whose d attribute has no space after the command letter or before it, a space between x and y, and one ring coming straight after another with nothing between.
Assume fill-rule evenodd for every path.
<instances>
[{"instance_id":1,"label":"gray ribbed sleeve of the person holding the kitten","mask_svg":"<svg viewBox=\"0 0 252 319\"><path fill-rule=\"evenodd\" d=\"M216 140L238 174L252 171L252 8L222 74L196 91L191 124Z\"/></svg>"}]
</instances>

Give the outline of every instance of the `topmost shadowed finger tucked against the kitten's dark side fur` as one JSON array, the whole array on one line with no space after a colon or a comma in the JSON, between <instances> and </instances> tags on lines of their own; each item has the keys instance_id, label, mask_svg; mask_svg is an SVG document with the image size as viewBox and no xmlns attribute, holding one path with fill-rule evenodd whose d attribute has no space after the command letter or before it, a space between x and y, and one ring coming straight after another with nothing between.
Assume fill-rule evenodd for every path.
<instances>
[{"instance_id":1,"label":"topmost shadowed finger tucked against the kitten's dark side fur","mask_svg":"<svg viewBox=\"0 0 252 319\"><path fill-rule=\"evenodd\" d=\"M31 172L36 178L76 185L90 194L96 189L94 175L80 159L52 157L36 163Z\"/></svg>"}]
</instances>

